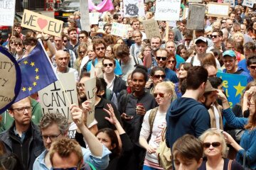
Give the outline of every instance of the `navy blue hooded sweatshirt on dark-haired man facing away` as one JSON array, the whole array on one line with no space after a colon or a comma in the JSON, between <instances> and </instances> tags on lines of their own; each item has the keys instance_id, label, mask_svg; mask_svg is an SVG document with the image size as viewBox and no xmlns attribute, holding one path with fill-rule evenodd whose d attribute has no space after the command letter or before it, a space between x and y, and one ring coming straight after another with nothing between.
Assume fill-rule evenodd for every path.
<instances>
[{"instance_id":1,"label":"navy blue hooded sweatshirt on dark-haired man facing away","mask_svg":"<svg viewBox=\"0 0 256 170\"><path fill-rule=\"evenodd\" d=\"M166 145L172 147L183 135L199 137L210 128L210 116L203 104L193 98L177 98L166 113Z\"/></svg>"}]
</instances>

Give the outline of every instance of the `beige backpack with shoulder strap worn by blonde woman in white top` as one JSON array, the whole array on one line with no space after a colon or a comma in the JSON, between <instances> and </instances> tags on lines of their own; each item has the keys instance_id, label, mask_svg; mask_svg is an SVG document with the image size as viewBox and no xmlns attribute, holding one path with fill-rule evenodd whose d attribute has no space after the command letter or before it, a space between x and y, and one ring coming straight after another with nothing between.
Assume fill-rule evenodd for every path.
<instances>
[{"instance_id":1,"label":"beige backpack with shoulder strap worn by blonde woman in white top","mask_svg":"<svg viewBox=\"0 0 256 170\"><path fill-rule=\"evenodd\" d=\"M151 112L149 113L149 126L150 126L150 135L148 138L148 142L151 138L154 119L156 118L156 112L158 110L158 107L153 108ZM166 146L166 128L161 133L161 142L159 144L159 147L156 149L156 157L159 160L159 165L164 169L172 169L172 162L171 162L171 149Z\"/></svg>"}]
</instances>

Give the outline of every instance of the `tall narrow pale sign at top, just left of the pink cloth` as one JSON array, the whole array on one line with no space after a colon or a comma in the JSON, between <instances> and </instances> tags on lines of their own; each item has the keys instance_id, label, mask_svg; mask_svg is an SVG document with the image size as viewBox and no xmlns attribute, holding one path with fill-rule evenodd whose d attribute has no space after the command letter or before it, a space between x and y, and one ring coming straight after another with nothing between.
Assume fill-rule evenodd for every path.
<instances>
[{"instance_id":1,"label":"tall narrow pale sign at top, just left of the pink cloth","mask_svg":"<svg viewBox=\"0 0 256 170\"><path fill-rule=\"evenodd\" d=\"M80 23L82 30L90 31L90 16L89 16L89 5L88 1L80 0Z\"/></svg>"}]
</instances>

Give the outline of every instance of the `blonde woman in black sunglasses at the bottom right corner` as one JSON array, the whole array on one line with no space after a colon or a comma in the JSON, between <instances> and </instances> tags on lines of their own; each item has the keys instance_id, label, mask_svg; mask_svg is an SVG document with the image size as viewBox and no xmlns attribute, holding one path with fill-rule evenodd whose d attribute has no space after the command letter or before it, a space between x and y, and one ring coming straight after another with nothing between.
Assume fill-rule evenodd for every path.
<instances>
[{"instance_id":1,"label":"blonde woman in black sunglasses at the bottom right corner","mask_svg":"<svg viewBox=\"0 0 256 170\"><path fill-rule=\"evenodd\" d=\"M225 158L227 145L222 130L209 129L199 137L203 142L203 152L206 156L199 170L223 169L240 170L243 169L238 162Z\"/></svg>"}]
</instances>

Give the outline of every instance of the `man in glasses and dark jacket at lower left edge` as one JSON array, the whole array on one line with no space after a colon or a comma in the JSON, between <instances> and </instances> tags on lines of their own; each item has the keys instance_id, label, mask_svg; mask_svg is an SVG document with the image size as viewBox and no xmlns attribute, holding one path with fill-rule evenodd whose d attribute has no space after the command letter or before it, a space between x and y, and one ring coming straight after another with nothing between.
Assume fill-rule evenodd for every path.
<instances>
[{"instance_id":1,"label":"man in glasses and dark jacket at lower left edge","mask_svg":"<svg viewBox=\"0 0 256 170\"><path fill-rule=\"evenodd\" d=\"M23 169L32 169L33 162L44 150L43 140L38 127L31 122L31 98L23 98L9 108L14 123L0 134L7 153L14 153L20 158Z\"/></svg>"}]
</instances>

